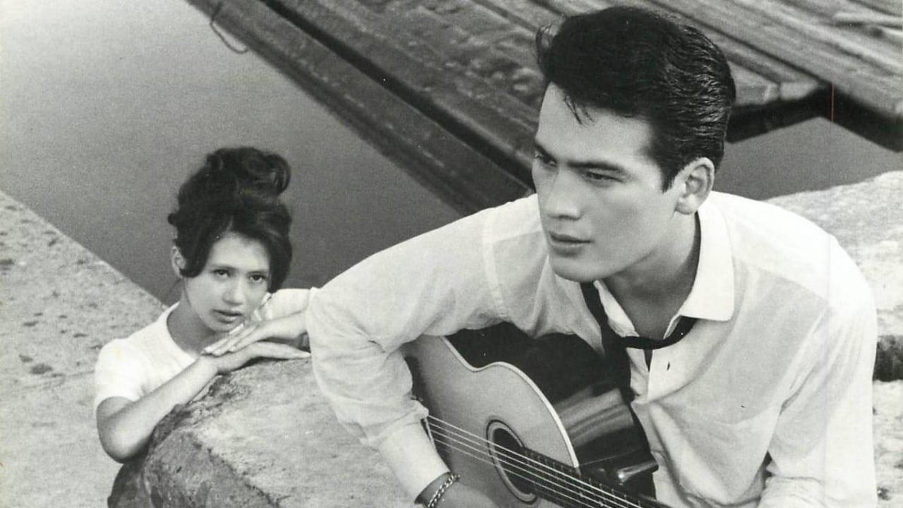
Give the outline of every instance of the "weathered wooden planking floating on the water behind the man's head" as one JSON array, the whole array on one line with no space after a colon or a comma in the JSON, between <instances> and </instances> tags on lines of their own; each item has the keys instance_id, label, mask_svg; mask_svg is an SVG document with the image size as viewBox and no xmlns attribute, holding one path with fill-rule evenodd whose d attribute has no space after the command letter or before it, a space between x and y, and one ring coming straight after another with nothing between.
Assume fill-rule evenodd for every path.
<instances>
[{"instance_id":1,"label":"weathered wooden planking floating on the water behind the man's head","mask_svg":"<svg viewBox=\"0 0 903 508\"><path fill-rule=\"evenodd\" d=\"M628 0L189 0L462 212L529 189L534 33ZM886 0L647 0L698 26L738 85L730 140L824 116L903 149L903 46ZM895 10L896 9L896 10Z\"/></svg>"}]
</instances>

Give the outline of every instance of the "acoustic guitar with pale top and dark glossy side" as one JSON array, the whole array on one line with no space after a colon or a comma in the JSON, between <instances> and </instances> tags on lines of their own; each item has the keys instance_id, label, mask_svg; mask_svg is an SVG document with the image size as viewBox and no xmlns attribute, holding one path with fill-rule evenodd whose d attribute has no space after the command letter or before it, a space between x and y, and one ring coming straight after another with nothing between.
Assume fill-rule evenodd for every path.
<instances>
[{"instance_id":1,"label":"acoustic guitar with pale top and dark glossy side","mask_svg":"<svg viewBox=\"0 0 903 508\"><path fill-rule=\"evenodd\" d=\"M436 449L499 506L666 508L645 435L580 337L502 324L421 337L405 358Z\"/></svg>"}]
</instances>

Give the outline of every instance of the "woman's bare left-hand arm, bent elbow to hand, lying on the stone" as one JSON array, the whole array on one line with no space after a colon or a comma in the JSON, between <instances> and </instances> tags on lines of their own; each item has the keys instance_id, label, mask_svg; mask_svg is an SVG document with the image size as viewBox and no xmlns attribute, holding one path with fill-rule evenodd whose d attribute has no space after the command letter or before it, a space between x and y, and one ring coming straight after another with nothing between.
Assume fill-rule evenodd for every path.
<instances>
[{"instance_id":1,"label":"woman's bare left-hand arm, bent elbow to hand, lying on the stone","mask_svg":"<svg viewBox=\"0 0 903 508\"><path fill-rule=\"evenodd\" d=\"M103 400L97 411L100 444L107 455L125 462L144 448L154 427L172 408L193 399L217 374L232 372L255 358L288 360L305 356L306 353L278 343L253 343L235 353L201 356L139 400Z\"/></svg>"}]
</instances>

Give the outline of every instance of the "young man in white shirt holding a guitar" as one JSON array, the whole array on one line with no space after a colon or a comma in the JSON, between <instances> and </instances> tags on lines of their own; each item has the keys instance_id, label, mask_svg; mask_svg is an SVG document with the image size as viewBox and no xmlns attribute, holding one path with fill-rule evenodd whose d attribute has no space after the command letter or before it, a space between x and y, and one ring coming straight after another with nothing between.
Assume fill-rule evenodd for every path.
<instances>
[{"instance_id":1,"label":"young man in white shirt holding a guitar","mask_svg":"<svg viewBox=\"0 0 903 508\"><path fill-rule=\"evenodd\" d=\"M424 434L398 348L499 322L601 351L591 283L628 349L632 402L669 506L873 506L870 290L833 237L712 192L734 99L721 52L655 14L611 8L539 38L548 86L536 194L406 241L323 287L314 371L339 419L412 498L490 506Z\"/></svg>"}]
</instances>

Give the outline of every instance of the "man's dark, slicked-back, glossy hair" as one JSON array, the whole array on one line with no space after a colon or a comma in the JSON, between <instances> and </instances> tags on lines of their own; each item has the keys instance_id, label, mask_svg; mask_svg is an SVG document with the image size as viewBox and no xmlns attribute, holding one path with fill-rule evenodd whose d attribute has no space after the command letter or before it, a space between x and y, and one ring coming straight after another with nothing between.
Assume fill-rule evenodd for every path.
<instances>
[{"instance_id":1,"label":"man's dark, slicked-back, glossy hair","mask_svg":"<svg viewBox=\"0 0 903 508\"><path fill-rule=\"evenodd\" d=\"M721 164L736 91L721 50L699 30L611 7L540 30L536 50L546 87L563 91L578 120L601 108L651 124L663 190L698 157Z\"/></svg>"}]
</instances>

